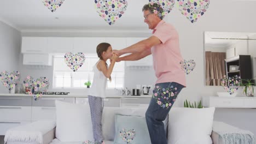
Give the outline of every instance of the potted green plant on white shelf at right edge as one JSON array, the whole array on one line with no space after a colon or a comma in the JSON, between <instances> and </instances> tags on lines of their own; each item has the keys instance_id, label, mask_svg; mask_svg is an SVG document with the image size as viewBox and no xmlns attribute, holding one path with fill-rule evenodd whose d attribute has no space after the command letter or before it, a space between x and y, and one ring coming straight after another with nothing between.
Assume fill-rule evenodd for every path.
<instances>
[{"instance_id":1,"label":"potted green plant on white shelf at right edge","mask_svg":"<svg viewBox=\"0 0 256 144\"><path fill-rule=\"evenodd\" d=\"M254 86L255 86L255 83L254 83L253 79L243 79L241 86L245 87L243 89L243 93L245 93L247 97L253 97L253 95L254 95Z\"/></svg>"}]
</instances>

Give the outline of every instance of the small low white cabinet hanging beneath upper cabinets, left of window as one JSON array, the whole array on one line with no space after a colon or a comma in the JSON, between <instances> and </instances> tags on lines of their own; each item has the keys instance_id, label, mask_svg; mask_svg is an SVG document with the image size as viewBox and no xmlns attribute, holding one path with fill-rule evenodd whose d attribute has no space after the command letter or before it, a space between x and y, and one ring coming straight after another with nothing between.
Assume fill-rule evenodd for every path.
<instances>
[{"instance_id":1,"label":"small low white cabinet hanging beneath upper cabinets, left of window","mask_svg":"<svg viewBox=\"0 0 256 144\"><path fill-rule=\"evenodd\" d=\"M53 57L48 54L27 54L23 55L24 65L52 65Z\"/></svg>"}]
</instances>

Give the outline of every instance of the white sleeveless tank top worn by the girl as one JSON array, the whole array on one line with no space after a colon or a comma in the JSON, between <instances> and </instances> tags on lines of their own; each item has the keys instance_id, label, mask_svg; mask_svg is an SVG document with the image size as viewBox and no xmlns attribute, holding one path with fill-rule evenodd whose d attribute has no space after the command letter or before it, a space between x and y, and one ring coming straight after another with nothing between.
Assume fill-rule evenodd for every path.
<instances>
[{"instance_id":1,"label":"white sleeveless tank top worn by the girl","mask_svg":"<svg viewBox=\"0 0 256 144\"><path fill-rule=\"evenodd\" d=\"M97 68L98 62L92 68L92 71L94 71L94 79L92 81L92 85L91 85L91 88L89 89L88 95L91 95L94 97L106 98L105 93L106 93L107 77L103 74L102 71L98 70Z\"/></svg>"}]
</instances>

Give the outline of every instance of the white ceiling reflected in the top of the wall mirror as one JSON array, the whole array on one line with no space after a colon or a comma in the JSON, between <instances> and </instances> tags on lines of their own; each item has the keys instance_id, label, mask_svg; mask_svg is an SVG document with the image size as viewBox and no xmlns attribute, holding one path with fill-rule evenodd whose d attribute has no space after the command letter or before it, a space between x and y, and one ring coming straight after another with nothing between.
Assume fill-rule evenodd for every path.
<instances>
[{"instance_id":1,"label":"white ceiling reflected in the top of the wall mirror","mask_svg":"<svg viewBox=\"0 0 256 144\"><path fill-rule=\"evenodd\" d=\"M256 40L256 33L205 32L205 44L212 47L227 47L247 39Z\"/></svg>"}]
</instances>

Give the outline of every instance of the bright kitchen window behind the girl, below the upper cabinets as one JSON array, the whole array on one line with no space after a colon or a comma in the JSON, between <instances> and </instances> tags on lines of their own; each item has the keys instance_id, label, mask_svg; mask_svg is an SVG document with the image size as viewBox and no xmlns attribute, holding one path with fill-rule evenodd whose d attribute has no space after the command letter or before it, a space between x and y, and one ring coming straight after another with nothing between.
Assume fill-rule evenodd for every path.
<instances>
[{"instance_id":1,"label":"bright kitchen window behind the girl, below the upper cabinets","mask_svg":"<svg viewBox=\"0 0 256 144\"><path fill-rule=\"evenodd\" d=\"M73 72L67 67L64 55L54 56L54 88L84 88L88 80L93 83L94 72L92 67L97 63L96 54L86 54L85 63L77 71ZM108 65L110 64L107 61ZM107 88L123 88L124 85L124 62L115 63L111 74L112 81L108 80Z\"/></svg>"}]
</instances>

